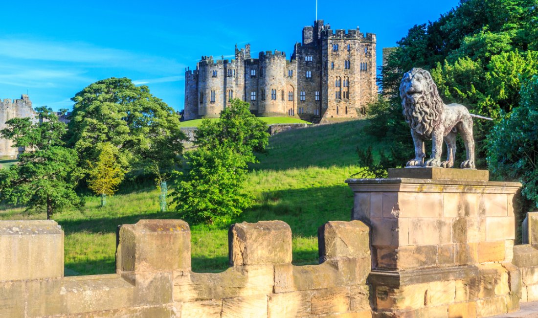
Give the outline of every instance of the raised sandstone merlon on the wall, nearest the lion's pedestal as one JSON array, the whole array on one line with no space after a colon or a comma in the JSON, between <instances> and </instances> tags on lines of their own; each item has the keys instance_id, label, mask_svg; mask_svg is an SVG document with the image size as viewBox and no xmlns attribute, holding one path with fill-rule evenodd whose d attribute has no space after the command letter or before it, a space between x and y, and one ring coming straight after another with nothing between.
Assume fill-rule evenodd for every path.
<instances>
[{"instance_id":1,"label":"raised sandstone merlon on the wall, nearest the lion's pedestal","mask_svg":"<svg viewBox=\"0 0 538 318\"><path fill-rule=\"evenodd\" d=\"M360 221L331 221L318 233L320 259L370 257L369 228Z\"/></svg>"}]
</instances>

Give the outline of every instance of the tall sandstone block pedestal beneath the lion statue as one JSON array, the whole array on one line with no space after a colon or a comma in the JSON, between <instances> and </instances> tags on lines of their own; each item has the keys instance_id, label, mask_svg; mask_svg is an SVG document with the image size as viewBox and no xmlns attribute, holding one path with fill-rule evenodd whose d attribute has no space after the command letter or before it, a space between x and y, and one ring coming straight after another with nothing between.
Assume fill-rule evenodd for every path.
<instances>
[{"instance_id":1,"label":"tall sandstone block pedestal beneath the lion statue","mask_svg":"<svg viewBox=\"0 0 538 318\"><path fill-rule=\"evenodd\" d=\"M519 308L511 262L520 183L446 168L391 169L388 179L346 183L355 193L352 219L371 227L374 316L486 317Z\"/></svg>"}]
</instances>

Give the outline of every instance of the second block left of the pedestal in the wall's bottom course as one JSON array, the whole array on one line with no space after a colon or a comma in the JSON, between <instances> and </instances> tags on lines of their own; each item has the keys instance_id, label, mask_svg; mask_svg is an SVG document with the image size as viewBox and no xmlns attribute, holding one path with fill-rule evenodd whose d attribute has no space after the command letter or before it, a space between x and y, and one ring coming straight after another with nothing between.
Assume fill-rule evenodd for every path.
<instances>
[{"instance_id":1,"label":"second block left of the pedestal in the wall's bottom course","mask_svg":"<svg viewBox=\"0 0 538 318\"><path fill-rule=\"evenodd\" d=\"M348 312L349 305L348 287L317 289L312 292L312 315L345 313Z\"/></svg>"}]
</instances>

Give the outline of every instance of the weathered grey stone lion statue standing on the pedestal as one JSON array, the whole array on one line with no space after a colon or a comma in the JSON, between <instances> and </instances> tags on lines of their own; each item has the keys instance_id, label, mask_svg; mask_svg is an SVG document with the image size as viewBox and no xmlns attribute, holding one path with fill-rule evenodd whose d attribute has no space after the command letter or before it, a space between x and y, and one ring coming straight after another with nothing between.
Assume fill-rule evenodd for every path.
<instances>
[{"instance_id":1,"label":"weathered grey stone lion statue standing on the pedestal","mask_svg":"<svg viewBox=\"0 0 538 318\"><path fill-rule=\"evenodd\" d=\"M407 167L454 166L456 159L456 134L460 133L467 151L467 160L461 168L475 168L475 140L472 133L472 116L460 104L445 105L439 96L431 74L421 68L405 73L400 84L400 97L404 117L411 128L415 144L415 159ZM431 140L430 159L424 162L424 141ZM443 140L447 144L447 161L441 161Z\"/></svg>"}]
</instances>

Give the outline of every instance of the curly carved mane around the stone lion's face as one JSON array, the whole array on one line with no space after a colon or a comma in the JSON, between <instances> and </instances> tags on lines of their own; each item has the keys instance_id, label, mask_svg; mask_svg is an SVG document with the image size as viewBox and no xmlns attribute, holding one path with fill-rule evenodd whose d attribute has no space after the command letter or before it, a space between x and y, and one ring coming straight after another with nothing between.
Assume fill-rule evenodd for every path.
<instances>
[{"instance_id":1,"label":"curly carved mane around the stone lion's face","mask_svg":"<svg viewBox=\"0 0 538 318\"><path fill-rule=\"evenodd\" d=\"M409 100L407 97L407 87L409 81L416 74L421 74L426 80L427 91L422 91L422 98L419 102ZM409 76L407 76L409 75ZM413 68L402 79L400 83L400 97L402 99L402 108L404 117L409 127L419 135L431 138L431 132L440 123L441 115L444 111L444 103L439 96L437 86L427 70Z\"/></svg>"}]
</instances>

